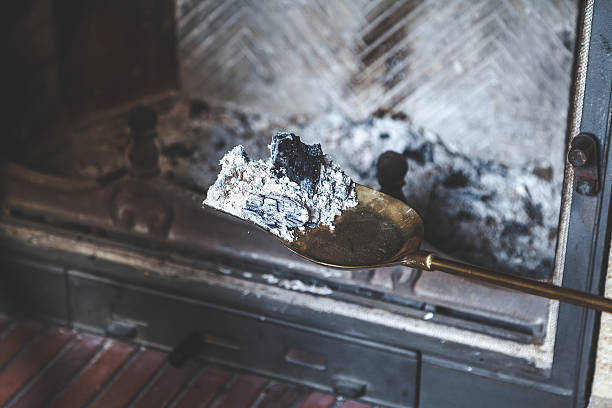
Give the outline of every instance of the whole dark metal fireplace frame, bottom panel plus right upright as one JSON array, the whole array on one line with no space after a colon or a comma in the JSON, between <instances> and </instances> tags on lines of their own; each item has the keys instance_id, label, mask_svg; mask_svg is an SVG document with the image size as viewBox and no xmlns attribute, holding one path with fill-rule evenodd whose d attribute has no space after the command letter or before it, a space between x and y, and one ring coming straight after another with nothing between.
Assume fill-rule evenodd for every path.
<instances>
[{"instance_id":1,"label":"whole dark metal fireplace frame, bottom panel plus right upright","mask_svg":"<svg viewBox=\"0 0 612 408\"><path fill-rule=\"evenodd\" d=\"M591 6L582 120L576 133L589 133L601 144L601 190L588 196L566 186L571 208L563 286L602 293L612 196L612 3L586 2L583 16L590 15ZM164 264L163 245L148 252L120 237L66 232L45 220L3 218L5 225L78 237L165 265L151 276L144 267L5 236L3 309L110 335L133 335L133 341L165 348L200 333L205 341L199 356L205 359L388 406L584 407L588 401L598 312L560 305L553 366L546 372L500 353L161 273L183 261L214 271L223 260L175 257ZM248 272L259 267L232 268ZM350 300L352 295L345 296ZM384 299L370 304L376 307L377 302ZM288 357L290 350L302 357L296 362L296 353Z\"/></svg>"}]
</instances>

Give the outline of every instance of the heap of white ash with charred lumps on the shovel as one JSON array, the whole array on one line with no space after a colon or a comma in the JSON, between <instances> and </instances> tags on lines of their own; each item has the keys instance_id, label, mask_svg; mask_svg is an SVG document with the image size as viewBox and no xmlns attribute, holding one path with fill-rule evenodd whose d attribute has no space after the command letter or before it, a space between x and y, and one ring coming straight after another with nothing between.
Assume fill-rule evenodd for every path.
<instances>
[{"instance_id":1,"label":"heap of white ash with charred lumps on the shovel","mask_svg":"<svg viewBox=\"0 0 612 408\"><path fill-rule=\"evenodd\" d=\"M294 230L333 229L336 216L357 205L354 184L325 158L321 146L277 133L268 160L251 160L238 145L221 159L205 205L249 220L292 242ZM289 175L293 178L290 178Z\"/></svg>"}]
</instances>

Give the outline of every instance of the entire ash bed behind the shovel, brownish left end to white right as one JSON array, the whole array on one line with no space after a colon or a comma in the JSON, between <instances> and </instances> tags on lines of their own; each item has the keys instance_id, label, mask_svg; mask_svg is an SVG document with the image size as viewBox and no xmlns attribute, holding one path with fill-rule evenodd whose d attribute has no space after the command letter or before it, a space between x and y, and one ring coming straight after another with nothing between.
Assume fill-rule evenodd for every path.
<instances>
[{"instance_id":1,"label":"entire ash bed behind the shovel, brownish left end to white right","mask_svg":"<svg viewBox=\"0 0 612 408\"><path fill-rule=\"evenodd\" d=\"M393 150L406 157L404 193L423 216L432 245L467 262L551 276L562 177L551 170L560 167L552 157L534 167L507 167L459 154L436 134L388 117L353 122L329 113L303 122L221 108L189 117L185 105L177 105L160 121L162 172L206 190L230 147L242 144L263 157L269 135L291 129L305 142L320 143L353 180L376 187L378 156Z\"/></svg>"}]
</instances>

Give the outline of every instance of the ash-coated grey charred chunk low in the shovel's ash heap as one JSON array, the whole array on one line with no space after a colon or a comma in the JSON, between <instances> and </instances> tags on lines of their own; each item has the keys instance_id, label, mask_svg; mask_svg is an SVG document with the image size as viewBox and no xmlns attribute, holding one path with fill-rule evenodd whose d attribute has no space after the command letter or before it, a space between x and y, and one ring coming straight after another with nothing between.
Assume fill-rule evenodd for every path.
<instances>
[{"instance_id":1,"label":"ash-coated grey charred chunk low in the shovel's ash heap","mask_svg":"<svg viewBox=\"0 0 612 408\"><path fill-rule=\"evenodd\" d=\"M249 220L268 228L296 228L309 219L306 207L280 195L251 194L246 199L244 211L247 212Z\"/></svg>"}]
</instances>

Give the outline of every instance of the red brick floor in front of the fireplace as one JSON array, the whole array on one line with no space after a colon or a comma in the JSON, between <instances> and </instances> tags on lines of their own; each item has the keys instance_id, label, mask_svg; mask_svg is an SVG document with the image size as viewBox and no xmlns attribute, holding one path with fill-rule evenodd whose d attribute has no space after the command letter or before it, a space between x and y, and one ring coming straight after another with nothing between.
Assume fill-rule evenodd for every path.
<instances>
[{"instance_id":1,"label":"red brick floor in front of the fireplace","mask_svg":"<svg viewBox=\"0 0 612 408\"><path fill-rule=\"evenodd\" d=\"M0 314L0 406L368 408L355 401Z\"/></svg>"}]
</instances>

